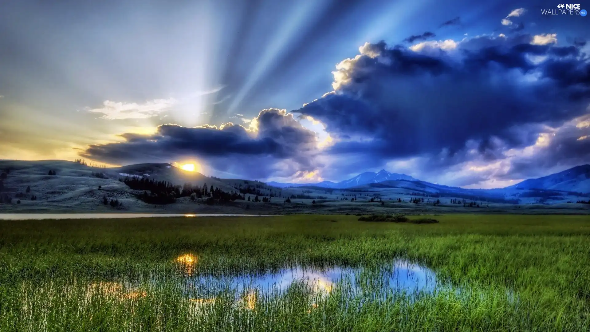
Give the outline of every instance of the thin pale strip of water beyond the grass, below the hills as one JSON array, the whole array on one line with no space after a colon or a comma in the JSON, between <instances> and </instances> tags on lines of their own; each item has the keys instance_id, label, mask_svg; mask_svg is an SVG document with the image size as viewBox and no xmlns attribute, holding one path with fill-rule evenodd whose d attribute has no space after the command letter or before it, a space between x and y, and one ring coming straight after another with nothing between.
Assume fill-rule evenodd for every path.
<instances>
[{"instance_id":1,"label":"thin pale strip of water beyond the grass, below the hills","mask_svg":"<svg viewBox=\"0 0 590 332\"><path fill-rule=\"evenodd\" d=\"M254 217L271 214L186 214L186 213L0 213L0 220L119 219L150 217Z\"/></svg>"}]
</instances>

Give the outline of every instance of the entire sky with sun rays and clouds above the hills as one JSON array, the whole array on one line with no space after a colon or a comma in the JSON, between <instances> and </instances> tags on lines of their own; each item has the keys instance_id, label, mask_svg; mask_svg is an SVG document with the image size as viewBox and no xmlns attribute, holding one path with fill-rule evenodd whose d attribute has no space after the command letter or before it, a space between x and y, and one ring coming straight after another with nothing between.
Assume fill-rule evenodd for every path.
<instances>
[{"instance_id":1,"label":"entire sky with sun rays and clouds above the hills","mask_svg":"<svg viewBox=\"0 0 590 332\"><path fill-rule=\"evenodd\" d=\"M466 188L588 164L590 18L559 4L2 1L0 159Z\"/></svg>"}]
</instances>

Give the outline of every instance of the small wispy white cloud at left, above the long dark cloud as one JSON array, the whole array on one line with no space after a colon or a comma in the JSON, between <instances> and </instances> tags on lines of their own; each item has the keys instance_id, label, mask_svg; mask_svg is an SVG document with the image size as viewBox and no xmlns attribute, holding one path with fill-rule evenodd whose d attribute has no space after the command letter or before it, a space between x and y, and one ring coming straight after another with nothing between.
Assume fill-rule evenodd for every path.
<instances>
[{"instance_id":1,"label":"small wispy white cloud at left, above the long dark cloud","mask_svg":"<svg viewBox=\"0 0 590 332\"><path fill-rule=\"evenodd\" d=\"M173 98L148 100L145 103L105 100L103 107L87 110L91 113L101 113L103 114L102 118L107 120L147 119L169 110L175 103L176 100Z\"/></svg>"}]
</instances>

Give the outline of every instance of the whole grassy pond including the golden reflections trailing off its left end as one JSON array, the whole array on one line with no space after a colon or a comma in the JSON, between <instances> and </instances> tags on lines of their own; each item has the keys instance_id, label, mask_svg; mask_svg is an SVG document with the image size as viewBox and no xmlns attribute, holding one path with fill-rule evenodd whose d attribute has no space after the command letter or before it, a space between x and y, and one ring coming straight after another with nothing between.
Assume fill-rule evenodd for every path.
<instances>
[{"instance_id":1,"label":"whole grassy pond including the golden reflections trailing off its left end","mask_svg":"<svg viewBox=\"0 0 590 332\"><path fill-rule=\"evenodd\" d=\"M413 301L418 295L432 295L437 291L435 272L425 266L405 260L395 260L380 267L352 268L345 266L293 266L279 271L251 274L195 274L198 257L184 254L175 259L182 277L166 280L158 274L146 282L102 281L91 282L86 294L114 296L120 300L149 297L174 282L182 298L191 305L215 304L231 301L234 305L254 308L257 302L268 301L294 291L297 298L306 298L312 307L320 299L336 294L337 298L362 298L365 301L388 301L401 296ZM90 293L89 293L90 292ZM348 301L348 300L347 300Z\"/></svg>"}]
</instances>

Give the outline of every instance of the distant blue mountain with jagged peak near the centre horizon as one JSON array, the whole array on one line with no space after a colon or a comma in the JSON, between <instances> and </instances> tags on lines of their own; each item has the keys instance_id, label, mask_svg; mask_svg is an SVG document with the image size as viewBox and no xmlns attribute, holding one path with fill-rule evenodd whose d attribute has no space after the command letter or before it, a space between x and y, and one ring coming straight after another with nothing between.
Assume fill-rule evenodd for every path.
<instances>
[{"instance_id":1,"label":"distant blue mountain with jagged peak near the centre horizon","mask_svg":"<svg viewBox=\"0 0 590 332\"><path fill-rule=\"evenodd\" d=\"M418 179L413 178L409 175L405 174L398 174L398 173L391 173L386 170L381 170L379 172L364 172L356 177L349 178L348 180L340 181L339 183L334 183L332 181L322 181L319 183L280 183L280 182L269 182L268 185L272 185L274 187L285 188L285 187L304 187L304 186L312 186L312 187L323 187L323 188L350 188L355 187L357 185L369 184L369 183L379 183L383 181L389 180L406 180L406 181L418 181Z\"/></svg>"}]
</instances>

